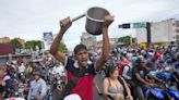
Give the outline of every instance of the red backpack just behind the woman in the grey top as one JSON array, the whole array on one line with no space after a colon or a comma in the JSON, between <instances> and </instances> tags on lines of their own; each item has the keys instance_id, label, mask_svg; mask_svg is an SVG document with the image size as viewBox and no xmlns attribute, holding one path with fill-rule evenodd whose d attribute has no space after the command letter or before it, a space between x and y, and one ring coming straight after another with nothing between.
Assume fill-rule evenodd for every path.
<instances>
[{"instance_id":1,"label":"red backpack just behind the woman in the grey top","mask_svg":"<svg viewBox=\"0 0 179 100\"><path fill-rule=\"evenodd\" d=\"M118 70L119 70L119 76L122 76L123 73L123 67L128 66L130 72L130 66L129 66L129 61L122 61L118 64Z\"/></svg>"}]
</instances>

